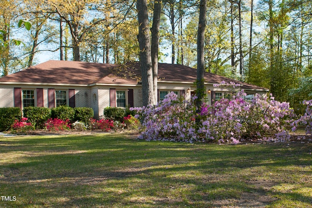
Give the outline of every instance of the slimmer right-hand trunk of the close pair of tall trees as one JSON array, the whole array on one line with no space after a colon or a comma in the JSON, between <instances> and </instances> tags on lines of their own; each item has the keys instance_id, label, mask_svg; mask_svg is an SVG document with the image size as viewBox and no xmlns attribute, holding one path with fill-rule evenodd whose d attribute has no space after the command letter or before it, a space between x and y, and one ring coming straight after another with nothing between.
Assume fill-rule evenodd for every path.
<instances>
[{"instance_id":1,"label":"slimmer right-hand trunk of the close pair of tall trees","mask_svg":"<svg viewBox=\"0 0 312 208\"><path fill-rule=\"evenodd\" d=\"M155 103L157 102L157 80L158 80L158 48L159 48L159 27L160 27L161 1L155 0L152 26L152 68Z\"/></svg>"}]
</instances>

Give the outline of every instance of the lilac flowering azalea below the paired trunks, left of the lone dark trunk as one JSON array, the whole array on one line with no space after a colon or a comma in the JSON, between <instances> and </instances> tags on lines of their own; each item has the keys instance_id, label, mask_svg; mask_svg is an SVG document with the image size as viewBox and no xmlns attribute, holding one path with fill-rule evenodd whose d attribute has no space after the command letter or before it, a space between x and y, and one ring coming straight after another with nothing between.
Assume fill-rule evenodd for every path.
<instances>
[{"instance_id":1,"label":"lilac flowering azalea below the paired trunks, left of the lone dark trunk","mask_svg":"<svg viewBox=\"0 0 312 208\"><path fill-rule=\"evenodd\" d=\"M193 99L194 101L194 99ZM141 120L139 138L146 140L197 141L195 131L195 107L187 100L179 100L173 92L155 106L136 110Z\"/></svg>"}]
</instances>

